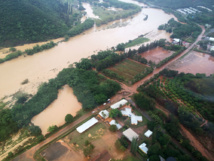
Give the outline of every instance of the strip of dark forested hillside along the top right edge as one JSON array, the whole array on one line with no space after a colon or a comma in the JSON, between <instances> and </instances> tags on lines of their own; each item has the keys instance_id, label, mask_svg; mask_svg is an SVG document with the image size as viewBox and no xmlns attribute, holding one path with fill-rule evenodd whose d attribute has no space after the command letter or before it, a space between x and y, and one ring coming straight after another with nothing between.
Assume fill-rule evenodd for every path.
<instances>
[{"instance_id":1,"label":"strip of dark forested hillside along the top right edge","mask_svg":"<svg viewBox=\"0 0 214 161\"><path fill-rule=\"evenodd\" d=\"M198 5L210 7L214 5L213 0L137 0L137 1L172 9L192 7Z\"/></svg>"}]
</instances>

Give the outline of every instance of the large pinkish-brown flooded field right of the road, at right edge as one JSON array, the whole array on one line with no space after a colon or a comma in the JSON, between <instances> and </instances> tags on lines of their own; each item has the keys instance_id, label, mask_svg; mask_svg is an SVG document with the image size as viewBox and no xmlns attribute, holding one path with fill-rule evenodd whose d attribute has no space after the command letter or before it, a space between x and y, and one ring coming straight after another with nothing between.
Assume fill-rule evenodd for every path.
<instances>
[{"instance_id":1,"label":"large pinkish-brown flooded field right of the road, at right edge","mask_svg":"<svg viewBox=\"0 0 214 161\"><path fill-rule=\"evenodd\" d=\"M170 64L167 68L184 73L214 74L214 57L208 54L191 51L185 57Z\"/></svg>"}]
</instances>

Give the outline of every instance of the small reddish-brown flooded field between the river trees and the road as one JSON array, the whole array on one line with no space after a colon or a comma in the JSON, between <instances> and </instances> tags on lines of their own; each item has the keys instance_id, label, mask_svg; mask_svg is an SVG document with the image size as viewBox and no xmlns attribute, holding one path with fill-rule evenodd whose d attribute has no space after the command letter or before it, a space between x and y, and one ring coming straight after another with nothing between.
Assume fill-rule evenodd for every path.
<instances>
[{"instance_id":1,"label":"small reddish-brown flooded field between the river trees and the road","mask_svg":"<svg viewBox=\"0 0 214 161\"><path fill-rule=\"evenodd\" d=\"M161 60L172 55L173 52L167 51L161 47L157 47L155 49L149 50L140 54L142 57L146 58L148 61L159 63Z\"/></svg>"}]
</instances>

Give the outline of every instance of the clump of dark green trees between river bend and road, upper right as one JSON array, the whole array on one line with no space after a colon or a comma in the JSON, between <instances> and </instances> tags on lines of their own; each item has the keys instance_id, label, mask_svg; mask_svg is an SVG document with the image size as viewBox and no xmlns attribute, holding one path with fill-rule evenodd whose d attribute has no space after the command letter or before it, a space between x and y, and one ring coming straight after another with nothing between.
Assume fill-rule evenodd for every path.
<instances>
[{"instance_id":1,"label":"clump of dark green trees between river bend and road, upper right","mask_svg":"<svg viewBox=\"0 0 214 161\"><path fill-rule=\"evenodd\" d=\"M166 30L166 32L172 33L171 38L179 38L187 42L193 42L201 33L201 28L195 23L181 24L175 21L173 18L168 21L167 24L160 25L159 30Z\"/></svg>"}]
</instances>

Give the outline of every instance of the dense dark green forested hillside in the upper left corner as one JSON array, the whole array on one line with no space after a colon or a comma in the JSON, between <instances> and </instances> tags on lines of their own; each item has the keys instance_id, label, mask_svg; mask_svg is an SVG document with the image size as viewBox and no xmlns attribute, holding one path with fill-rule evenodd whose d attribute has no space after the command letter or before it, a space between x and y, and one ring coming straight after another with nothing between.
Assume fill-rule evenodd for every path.
<instances>
[{"instance_id":1,"label":"dense dark green forested hillside in the upper left corner","mask_svg":"<svg viewBox=\"0 0 214 161\"><path fill-rule=\"evenodd\" d=\"M6 0L0 7L0 46L64 36L72 23L68 4L57 0Z\"/></svg>"}]
</instances>

